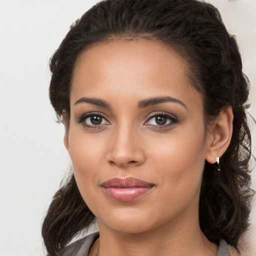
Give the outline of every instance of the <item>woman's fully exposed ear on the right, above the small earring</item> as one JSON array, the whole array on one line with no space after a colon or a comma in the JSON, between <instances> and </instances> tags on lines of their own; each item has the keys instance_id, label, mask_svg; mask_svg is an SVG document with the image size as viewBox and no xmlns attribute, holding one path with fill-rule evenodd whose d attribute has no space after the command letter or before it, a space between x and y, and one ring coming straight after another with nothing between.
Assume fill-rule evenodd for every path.
<instances>
[{"instance_id":1,"label":"woman's fully exposed ear on the right, above the small earring","mask_svg":"<svg viewBox=\"0 0 256 256\"><path fill-rule=\"evenodd\" d=\"M216 162L227 149L233 130L232 107L220 111L217 118L209 125L207 131L207 149L205 159L209 163Z\"/></svg>"}]
</instances>

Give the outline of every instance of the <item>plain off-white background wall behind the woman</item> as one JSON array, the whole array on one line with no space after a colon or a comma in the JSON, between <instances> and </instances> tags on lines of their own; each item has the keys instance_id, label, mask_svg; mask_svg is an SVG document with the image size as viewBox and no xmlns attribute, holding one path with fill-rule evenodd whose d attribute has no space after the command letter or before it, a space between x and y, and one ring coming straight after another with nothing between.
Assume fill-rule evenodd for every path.
<instances>
[{"instance_id":1,"label":"plain off-white background wall behind the woman","mask_svg":"<svg viewBox=\"0 0 256 256\"><path fill-rule=\"evenodd\" d=\"M237 37L255 118L256 0L206 1ZM69 25L96 2L0 0L0 256L44 255L41 221L70 163L48 100L48 59ZM255 130L253 137L255 153ZM255 215L254 206L254 242Z\"/></svg>"}]
</instances>

